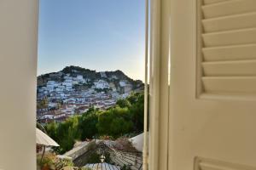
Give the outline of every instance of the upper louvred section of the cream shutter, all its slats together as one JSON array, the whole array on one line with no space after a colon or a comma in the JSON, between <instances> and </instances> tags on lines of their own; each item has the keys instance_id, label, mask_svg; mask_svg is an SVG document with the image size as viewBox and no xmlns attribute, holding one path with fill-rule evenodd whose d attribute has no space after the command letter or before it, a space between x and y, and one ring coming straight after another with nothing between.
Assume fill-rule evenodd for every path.
<instances>
[{"instance_id":1,"label":"upper louvred section of the cream shutter, all its slats together","mask_svg":"<svg viewBox=\"0 0 256 170\"><path fill-rule=\"evenodd\" d=\"M256 94L256 0L198 0L201 94Z\"/></svg>"}]
</instances>

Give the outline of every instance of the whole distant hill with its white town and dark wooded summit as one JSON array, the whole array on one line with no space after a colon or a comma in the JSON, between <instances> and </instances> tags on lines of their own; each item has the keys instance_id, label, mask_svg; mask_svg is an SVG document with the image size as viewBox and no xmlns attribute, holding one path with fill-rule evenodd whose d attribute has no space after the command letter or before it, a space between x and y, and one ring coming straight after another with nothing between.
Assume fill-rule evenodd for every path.
<instances>
[{"instance_id":1,"label":"whole distant hill with its white town and dark wooded summit","mask_svg":"<svg viewBox=\"0 0 256 170\"><path fill-rule=\"evenodd\" d=\"M63 122L95 107L105 111L131 93L143 90L143 82L122 71L90 71L67 66L38 77L37 121Z\"/></svg>"}]
</instances>

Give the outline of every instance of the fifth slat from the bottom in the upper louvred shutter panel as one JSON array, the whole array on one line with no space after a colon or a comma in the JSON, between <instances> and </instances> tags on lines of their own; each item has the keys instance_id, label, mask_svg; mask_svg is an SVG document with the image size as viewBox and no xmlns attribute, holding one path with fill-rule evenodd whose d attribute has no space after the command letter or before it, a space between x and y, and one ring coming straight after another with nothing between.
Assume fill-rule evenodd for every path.
<instances>
[{"instance_id":1,"label":"fifth slat from the bottom in the upper louvred shutter panel","mask_svg":"<svg viewBox=\"0 0 256 170\"><path fill-rule=\"evenodd\" d=\"M256 13L202 20L202 24L205 32L252 28L256 27Z\"/></svg>"}]
</instances>

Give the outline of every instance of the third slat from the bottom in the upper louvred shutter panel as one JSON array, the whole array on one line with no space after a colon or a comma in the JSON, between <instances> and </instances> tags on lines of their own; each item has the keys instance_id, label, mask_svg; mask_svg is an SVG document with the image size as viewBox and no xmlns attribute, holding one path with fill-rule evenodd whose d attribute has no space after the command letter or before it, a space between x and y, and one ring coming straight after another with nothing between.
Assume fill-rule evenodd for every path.
<instances>
[{"instance_id":1,"label":"third slat from the bottom in the upper louvred shutter panel","mask_svg":"<svg viewBox=\"0 0 256 170\"><path fill-rule=\"evenodd\" d=\"M256 44L202 48L204 61L256 59Z\"/></svg>"}]
</instances>

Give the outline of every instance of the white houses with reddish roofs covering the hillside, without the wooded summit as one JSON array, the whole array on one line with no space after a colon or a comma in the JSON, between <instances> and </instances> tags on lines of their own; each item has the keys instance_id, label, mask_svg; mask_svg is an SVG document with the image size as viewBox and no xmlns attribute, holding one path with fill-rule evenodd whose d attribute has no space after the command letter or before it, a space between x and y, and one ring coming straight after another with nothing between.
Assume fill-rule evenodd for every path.
<instances>
[{"instance_id":1,"label":"white houses with reddish roofs covering the hillside, without the wooded summit","mask_svg":"<svg viewBox=\"0 0 256 170\"><path fill-rule=\"evenodd\" d=\"M49 80L38 87L38 122L62 122L69 116L88 111L91 106L107 110L118 99L131 94L133 88L126 80L120 80L117 87L113 82L106 81L106 74L101 73L101 76L102 79L91 81L82 75L72 77L66 74L62 75L62 81ZM75 88L87 84L90 88Z\"/></svg>"}]
</instances>

